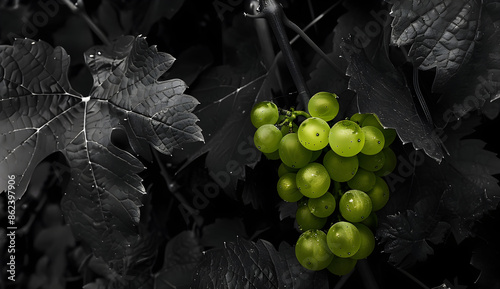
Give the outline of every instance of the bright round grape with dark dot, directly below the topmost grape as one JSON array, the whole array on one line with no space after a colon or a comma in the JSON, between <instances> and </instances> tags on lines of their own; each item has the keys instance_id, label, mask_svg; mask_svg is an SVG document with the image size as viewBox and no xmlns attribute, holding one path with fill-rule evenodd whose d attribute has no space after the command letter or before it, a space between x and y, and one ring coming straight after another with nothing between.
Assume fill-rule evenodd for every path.
<instances>
[{"instance_id":1,"label":"bright round grape with dark dot, directly below the topmost grape","mask_svg":"<svg viewBox=\"0 0 500 289\"><path fill-rule=\"evenodd\" d=\"M299 141L308 150L322 150L328 145L330 126L321 118L311 117L299 126Z\"/></svg>"}]
</instances>

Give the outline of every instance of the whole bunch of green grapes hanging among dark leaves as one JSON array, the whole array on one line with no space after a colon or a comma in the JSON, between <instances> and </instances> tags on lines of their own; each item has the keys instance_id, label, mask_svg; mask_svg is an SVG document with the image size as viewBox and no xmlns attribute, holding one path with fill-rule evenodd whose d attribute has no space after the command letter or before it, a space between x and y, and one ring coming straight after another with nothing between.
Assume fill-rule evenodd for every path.
<instances>
[{"instance_id":1,"label":"whole bunch of green grapes hanging among dark leaves","mask_svg":"<svg viewBox=\"0 0 500 289\"><path fill-rule=\"evenodd\" d=\"M281 161L278 195L297 202L299 263L345 275L375 248L376 212L389 200L383 177L397 162L389 147L396 131L384 128L375 114L332 123L339 112L333 93L315 94L307 109L257 103L250 113L254 144L268 159Z\"/></svg>"}]
</instances>

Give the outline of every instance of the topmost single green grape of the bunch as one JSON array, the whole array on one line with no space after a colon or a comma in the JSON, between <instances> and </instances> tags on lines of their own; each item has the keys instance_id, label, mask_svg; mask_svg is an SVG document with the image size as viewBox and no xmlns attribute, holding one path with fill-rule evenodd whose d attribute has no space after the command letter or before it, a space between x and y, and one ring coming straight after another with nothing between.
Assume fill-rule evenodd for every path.
<instances>
[{"instance_id":1,"label":"topmost single green grape of the bunch","mask_svg":"<svg viewBox=\"0 0 500 289\"><path fill-rule=\"evenodd\" d=\"M328 92L318 92L309 100L307 110L309 110L309 114L313 117L330 121L339 113L337 95Z\"/></svg>"}]
</instances>

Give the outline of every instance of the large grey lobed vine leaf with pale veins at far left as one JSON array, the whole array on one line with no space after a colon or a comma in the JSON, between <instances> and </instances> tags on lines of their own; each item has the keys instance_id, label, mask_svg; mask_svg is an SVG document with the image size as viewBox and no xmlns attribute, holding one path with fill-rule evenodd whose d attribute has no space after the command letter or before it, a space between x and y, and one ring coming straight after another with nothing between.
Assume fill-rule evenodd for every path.
<instances>
[{"instance_id":1,"label":"large grey lobed vine leaf with pale veins at far left","mask_svg":"<svg viewBox=\"0 0 500 289\"><path fill-rule=\"evenodd\" d=\"M171 154L203 140L192 113L198 101L184 94L182 80L157 81L174 58L143 37L93 47L85 60L94 87L82 97L68 82L70 59L61 47L30 39L0 46L0 190L14 175L20 198L36 165L61 152L71 172L62 200L67 222L97 257L126 274L145 243L138 226L145 188L137 175L144 165L111 142L112 131L126 131L132 147L147 142Z\"/></svg>"}]
</instances>

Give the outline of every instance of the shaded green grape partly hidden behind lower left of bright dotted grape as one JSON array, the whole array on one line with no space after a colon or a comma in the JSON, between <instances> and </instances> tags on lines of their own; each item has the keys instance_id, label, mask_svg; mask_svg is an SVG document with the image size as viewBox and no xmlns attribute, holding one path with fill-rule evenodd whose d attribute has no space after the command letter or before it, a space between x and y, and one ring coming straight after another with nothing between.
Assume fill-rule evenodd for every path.
<instances>
[{"instance_id":1,"label":"shaded green grape partly hidden behind lower left of bright dotted grape","mask_svg":"<svg viewBox=\"0 0 500 289\"><path fill-rule=\"evenodd\" d=\"M291 168L302 168L309 163L312 152L302 146L296 133L285 135L279 144L281 161Z\"/></svg>"}]
</instances>

